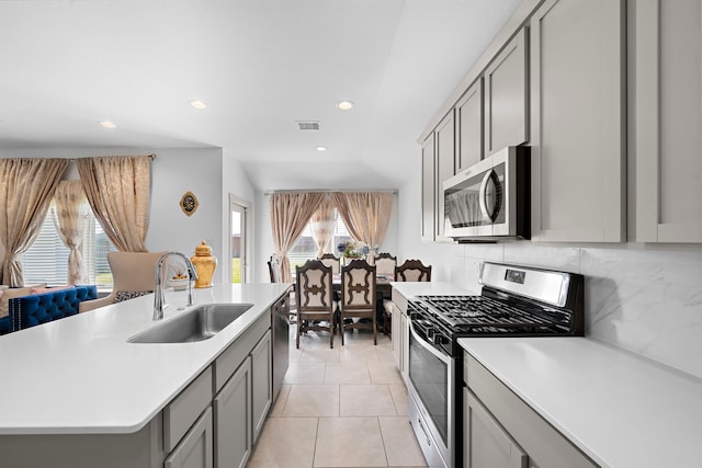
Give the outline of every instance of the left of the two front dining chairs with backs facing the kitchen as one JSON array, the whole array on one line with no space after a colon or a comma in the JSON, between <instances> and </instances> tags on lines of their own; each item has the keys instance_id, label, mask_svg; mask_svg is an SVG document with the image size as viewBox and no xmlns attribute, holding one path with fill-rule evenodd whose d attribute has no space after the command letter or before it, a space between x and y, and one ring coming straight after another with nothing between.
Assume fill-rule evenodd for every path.
<instances>
[{"instance_id":1,"label":"left of the two front dining chairs with backs facing the kitchen","mask_svg":"<svg viewBox=\"0 0 702 468\"><path fill-rule=\"evenodd\" d=\"M308 260L295 267L297 285L297 332L295 346L299 347L299 336L309 331L328 331L329 347L333 347L333 286L331 267L319 260Z\"/></svg>"}]
</instances>

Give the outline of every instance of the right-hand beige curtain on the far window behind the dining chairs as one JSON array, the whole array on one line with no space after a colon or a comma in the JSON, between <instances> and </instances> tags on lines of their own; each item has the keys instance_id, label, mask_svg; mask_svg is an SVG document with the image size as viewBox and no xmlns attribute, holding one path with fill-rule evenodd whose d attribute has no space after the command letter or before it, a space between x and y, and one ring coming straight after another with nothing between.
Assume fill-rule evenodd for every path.
<instances>
[{"instance_id":1,"label":"right-hand beige curtain on the far window behind the dining chairs","mask_svg":"<svg viewBox=\"0 0 702 468\"><path fill-rule=\"evenodd\" d=\"M335 192L332 199L349 233L371 248L381 246L393 213L393 195L385 192Z\"/></svg>"}]
</instances>

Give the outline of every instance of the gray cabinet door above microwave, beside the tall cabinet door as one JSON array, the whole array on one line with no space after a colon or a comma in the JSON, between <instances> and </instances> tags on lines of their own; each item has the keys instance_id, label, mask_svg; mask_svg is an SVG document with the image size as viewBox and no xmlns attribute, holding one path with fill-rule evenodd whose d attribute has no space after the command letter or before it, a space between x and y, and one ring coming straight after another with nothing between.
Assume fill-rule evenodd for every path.
<instances>
[{"instance_id":1,"label":"gray cabinet door above microwave, beside the tall cabinet door","mask_svg":"<svg viewBox=\"0 0 702 468\"><path fill-rule=\"evenodd\" d=\"M526 54L520 30L485 70L485 156L529 140Z\"/></svg>"}]
</instances>

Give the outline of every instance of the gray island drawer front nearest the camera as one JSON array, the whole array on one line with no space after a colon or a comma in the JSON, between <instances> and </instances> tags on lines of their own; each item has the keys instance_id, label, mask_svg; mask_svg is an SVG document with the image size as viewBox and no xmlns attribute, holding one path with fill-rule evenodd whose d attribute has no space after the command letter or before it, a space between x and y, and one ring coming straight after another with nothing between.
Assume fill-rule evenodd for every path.
<instances>
[{"instance_id":1,"label":"gray island drawer front nearest the camera","mask_svg":"<svg viewBox=\"0 0 702 468\"><path fill-rule=\"evenodd\" d=\"M170 453L212 401L212 368L207 367L163 409L163 450Z\"/></svg>"}]
</instances>

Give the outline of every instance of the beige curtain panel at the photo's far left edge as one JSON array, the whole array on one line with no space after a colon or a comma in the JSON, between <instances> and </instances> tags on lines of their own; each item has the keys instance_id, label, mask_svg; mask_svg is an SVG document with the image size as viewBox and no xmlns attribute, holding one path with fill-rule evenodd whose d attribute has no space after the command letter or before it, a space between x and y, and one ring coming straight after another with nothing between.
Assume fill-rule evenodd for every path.
<instances>
[{"instance_id":1,"label":"beige curtain panel at the photo's far left edge","mask_svg":"<svg viewBox=\"0 0 702 468\"><path fill-rule=\"evenodd\" d=\"M67 165L67 159L0 159L2 284L24 285L18 256L36 239Z\"/></svg>"}]
</instances>

